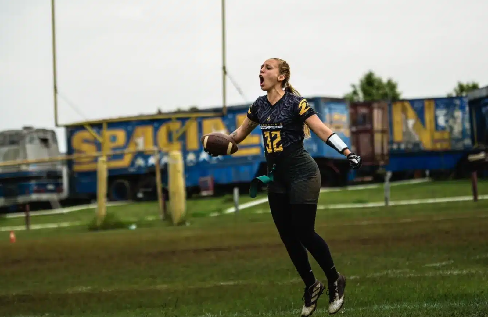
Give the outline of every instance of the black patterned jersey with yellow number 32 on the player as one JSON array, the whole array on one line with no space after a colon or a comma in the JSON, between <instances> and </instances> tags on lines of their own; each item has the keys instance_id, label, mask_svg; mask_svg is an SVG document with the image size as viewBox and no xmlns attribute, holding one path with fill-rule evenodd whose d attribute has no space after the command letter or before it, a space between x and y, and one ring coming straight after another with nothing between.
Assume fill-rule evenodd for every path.
<instances>
[{"instance_id":1,"label":"black patterned jersey with yellow number 32 on the player","mask_svg":"<svg viewBox=\"0 0 488 317\"><path fill-rule=\"evenodd\" d=\"M305 119L314 114L305 98L285 92L274 105L267 96L256 99L247 118L260 124L266 158L277 158L291 145L303 145Z\"/></svg>"}]
</instances>

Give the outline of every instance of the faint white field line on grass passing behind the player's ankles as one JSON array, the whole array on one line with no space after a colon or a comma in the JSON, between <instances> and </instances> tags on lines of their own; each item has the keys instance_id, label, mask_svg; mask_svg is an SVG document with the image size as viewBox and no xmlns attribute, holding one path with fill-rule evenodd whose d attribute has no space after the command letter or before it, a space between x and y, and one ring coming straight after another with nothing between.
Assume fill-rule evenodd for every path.
<instances>
[{"instance_id":1,"label":"faint white field line on grass passing behind the player's ankles","mask_svg":"<svg viewBox=\"0 0 488 317\"><path fill-rule=\"evenodd\" d=\"M378 277L387 278L410 278L410 277L449 277L449 276L464 276L471 274L486 274L488 270L481 269L465 269L465 270L444 270L444 271L428 271L424 273L416 273L414 270L387 270L383 272L368 274L365 276L346 276L347 280L362 280ZM77 286L71 287L57 294L78 294L78 293L90 293L90 292L122 292L130 290L185 290L185 289L204 289L220 286L233 286L233 285L288 285L292 283L301 283L300 278L294 278L283 282L267 282L267 281L255 281L255 280L228 280L228 281L208 281L195 283L193 285L180 285L180 284L159 284L159 285L126 285L122 287L114 288L93 288L90 286ZM25 291L26 292L26 291ZM24 292L9 293L8 295L23 294ZM0 294L4 294L1 293ZM7 294L4 294L7 295Z\"/></svg>"}]
</instances>

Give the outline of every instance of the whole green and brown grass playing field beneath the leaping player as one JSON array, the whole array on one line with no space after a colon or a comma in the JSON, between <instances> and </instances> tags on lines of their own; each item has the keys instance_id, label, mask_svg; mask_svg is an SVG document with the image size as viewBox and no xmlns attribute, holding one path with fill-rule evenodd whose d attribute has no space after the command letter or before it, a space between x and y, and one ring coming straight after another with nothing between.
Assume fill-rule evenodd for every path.
<instances>
[{"instance_id":1,"label":"whole green and brown grass playing field beneath the leaping player","mask_svg":"<svg viewBox=\"0 0 488 317\"><path fill-rule=\"evenodd\" d=\"M488 194L488 183L479 192ZM464 195L466 181L391 190L392 200ZM19 231L16 243L1 233L0 316L300 316L303 282L270 215L259 213L267 204L202 217L231 206L225 199L189 201L188 213L200 216L189 226L152 221L136 230ZM383 189L375 188L324 193L320 203L382 199ZM113 208L123 217L156 212L151 204ZM339 315L488 316L487 210L488 200L320 210L316 231L348 278ZM92 216L88 210L32 219ZM0 226L14 221L22 223L9 218ZM313 316L327 316L326 308L324 295Z\"/></svg>"}]
</instances>

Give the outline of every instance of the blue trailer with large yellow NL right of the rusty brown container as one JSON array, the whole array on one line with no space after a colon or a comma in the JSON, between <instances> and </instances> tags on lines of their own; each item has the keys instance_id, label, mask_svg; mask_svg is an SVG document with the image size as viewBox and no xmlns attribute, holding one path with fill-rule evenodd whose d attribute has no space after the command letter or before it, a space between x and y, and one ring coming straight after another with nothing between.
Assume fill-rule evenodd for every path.
<instances>
[{"instance_id":1,"label":"blue trailer with large yellow NL right of the rusty brown container","mask_svg":"<svg viewBox=\"0 0 488 317\"><path fill-rule=\"evenodd\" d=\"M382 129L387 130L388 138L375 139L373 143L375 148L378 148L380 143L383 148L387 146L387 155L382 162L371 158L368 162L369 169L366 167L362 173L391 171L395 178L410 178L414 174L425 174L426 171L429 171L431 176L448 176L455 172L463 174L464 162L473 150L466 97L351 104L351 117L357 118L360 111L358 109L366 112L364 109L373 109L375 104L382 105L381 114L376 118L370 115L363 121L382 122ZM366 122L366 126L369 121ZM361 122L353 122L354 124L365 126ZM358 154L368 157L368 145L363 142L358 146Z\"/></svg>"}]
</instances>

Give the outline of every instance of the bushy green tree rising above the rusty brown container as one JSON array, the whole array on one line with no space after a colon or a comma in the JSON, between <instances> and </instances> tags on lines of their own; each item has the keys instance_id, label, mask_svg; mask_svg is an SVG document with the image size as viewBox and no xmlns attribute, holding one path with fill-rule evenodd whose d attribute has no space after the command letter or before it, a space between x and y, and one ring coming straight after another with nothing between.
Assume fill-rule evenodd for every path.
<instances>
[{"instance_id":1,"label":"bushy green tree rising above the rusty brown container","mask_svg":"<svg viewBox=\"0 0 488 317\"><path fill-rule=\"evenodd\" d=\"M352 90L344 98L349 101L391 100L402 97L398 91L398 83L391 78L385 81L376 76L373 71L368 71L360 80L359 85L351 84Z\"/></svg>"}]
</instances>

